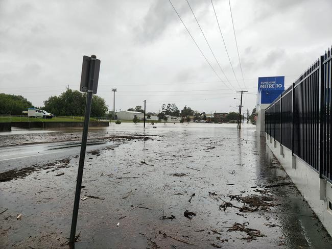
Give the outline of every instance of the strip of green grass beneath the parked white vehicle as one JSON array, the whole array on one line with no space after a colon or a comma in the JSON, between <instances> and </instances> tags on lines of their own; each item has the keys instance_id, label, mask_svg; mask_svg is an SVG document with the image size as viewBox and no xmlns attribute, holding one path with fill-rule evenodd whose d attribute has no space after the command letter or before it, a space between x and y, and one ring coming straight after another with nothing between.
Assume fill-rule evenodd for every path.
<instances>
[{"instance_id":1,"label":"strip of green grass beneath the parked white vehicle","mask_svg":"<svg viewBox=\"0 0 332 249\"><path fill-rule=\"evenodd\" d=\"M0 116L0 122L83 122L84 117L53 117L53 118L34 118L17 116ZM90 121L98 121L96 118L90 118Z\"/></svg>"}]
</instances>

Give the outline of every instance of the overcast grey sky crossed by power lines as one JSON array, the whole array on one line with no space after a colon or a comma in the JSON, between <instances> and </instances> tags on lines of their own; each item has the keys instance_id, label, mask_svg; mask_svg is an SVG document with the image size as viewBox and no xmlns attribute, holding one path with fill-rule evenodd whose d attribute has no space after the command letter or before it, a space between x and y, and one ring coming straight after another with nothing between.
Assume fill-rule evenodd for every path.
<instances>
[{"instance_id":1,"label":"overcast grey sky crossed by power lines","mask_svg":"<svg viewBox=\"0 0 332 249\"><path fill-rule=\"evenodd\" d=\"M188 0L217 61L185 0L172 0L204 56L168 0L0 0L0 92L42 106L51 95L78 90L83 55L101 60L98 95L113 109L163 103L194 110L236 111L256 104L257 78L286 76L290 85L332 43L332 1ZM220 79L222 80L220 80ZM231 88L231 90L229 89Z\"/></svg>"}]
</instances>

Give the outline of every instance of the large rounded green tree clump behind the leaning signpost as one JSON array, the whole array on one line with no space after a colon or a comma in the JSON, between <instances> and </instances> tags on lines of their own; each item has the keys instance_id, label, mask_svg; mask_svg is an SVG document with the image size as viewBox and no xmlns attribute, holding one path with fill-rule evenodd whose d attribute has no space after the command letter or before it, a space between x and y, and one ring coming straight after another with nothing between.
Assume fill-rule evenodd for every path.
<instances>
[{"instance_id":1,"label":"large rounded green tree clump behind the leaning signpost","mask_svg":"<svg viewBox=\"0 0 332 249\"><path fill-rule=\"evenodd\" d=\"M58 116L83 116L85 105L86 93L68 89L60 96L49 97L48 100L44 101L43 109ZM105 116L107 109L105 99L97 95L92 96L91 117Z\"/></svg>"}]
</instances>

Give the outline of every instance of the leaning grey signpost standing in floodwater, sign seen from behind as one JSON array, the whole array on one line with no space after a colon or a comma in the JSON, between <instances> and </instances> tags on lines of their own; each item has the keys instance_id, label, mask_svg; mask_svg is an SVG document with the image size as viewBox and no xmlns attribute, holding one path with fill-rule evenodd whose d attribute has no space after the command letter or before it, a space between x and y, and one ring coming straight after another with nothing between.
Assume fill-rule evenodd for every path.
<instances>
[{"instance_id":1,"label":"leaning grey signpost standing in floodwater, sign seen from behind","mask_svg":"<svg viewBox=\"0 0 332 249\"><path fill-rule=\"evenodd\" d=\"M80 205L80 195L81 195L86 141L89 129L92 94L97 93L99 69L100 69L100 60L98 60L95 55L91 55L91 57L83 56L80 91L86 92L87 96L86 96L86 105L85 105L85 117L84 117L82 144L80 152L80 161L77 172L72 227L70 229L70 237L69 237L70 248L75 248L75 234L76 234L78 210Z\"/></svg>"}]
</instances>

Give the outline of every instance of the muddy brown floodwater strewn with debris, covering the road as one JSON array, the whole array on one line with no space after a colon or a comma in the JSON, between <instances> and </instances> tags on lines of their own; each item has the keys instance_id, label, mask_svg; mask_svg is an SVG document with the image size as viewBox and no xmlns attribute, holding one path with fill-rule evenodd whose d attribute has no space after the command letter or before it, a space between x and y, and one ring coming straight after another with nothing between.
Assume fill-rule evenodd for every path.
<instances>
[{"instance_id":1,"label":"muddy brown floodwater strewn with debris, covering the road","mask_svg":"<svg viewBox=\"0 0 332 249\"><path fill-rule=\"evenodd\" d=\"M75 248L331 248L254 126L156 126L90 129L105 144L85 157ZM0 146L81 133L20 131L1 135ZM0 174L1 248L68 248L79 158L53 155Z\"/></svg>"}]
</instances>

